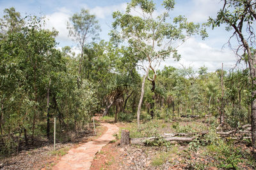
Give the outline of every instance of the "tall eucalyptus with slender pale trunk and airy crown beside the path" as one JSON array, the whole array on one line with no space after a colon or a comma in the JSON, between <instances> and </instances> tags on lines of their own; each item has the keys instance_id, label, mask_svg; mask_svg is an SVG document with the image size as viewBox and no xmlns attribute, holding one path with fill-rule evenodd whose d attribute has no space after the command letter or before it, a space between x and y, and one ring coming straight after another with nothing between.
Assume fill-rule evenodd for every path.
<instances>
[{"instance_id":1,"label":"tall eucalyptus with slender pale trunk and airy crown beside the path","mask_svg":"<svg viewBox=\"0 0 256 170\"><path fill-rule=\"evenodd\" d=\"M113 13L112 39L117 43L125 42L134 50L134 57L145 64L145 75L141 84L141 96L137 111L137 124L140 126L140 110L144 96L145 81L148 78L154 84L156 81L156 64L171 54L179 60L180 55L173 43L182 43L193 34L206 35L200 30L199 24L193 24L182 16L173 18L170 22L170 11L174 8L173 0L163 1L164 12L157 15L156 4L150 0L132 0L127 4L125 13ZM135 13L135 14L134 14ZM148 76L149 71L154 72Z\"/></svg>"}]
</instances>

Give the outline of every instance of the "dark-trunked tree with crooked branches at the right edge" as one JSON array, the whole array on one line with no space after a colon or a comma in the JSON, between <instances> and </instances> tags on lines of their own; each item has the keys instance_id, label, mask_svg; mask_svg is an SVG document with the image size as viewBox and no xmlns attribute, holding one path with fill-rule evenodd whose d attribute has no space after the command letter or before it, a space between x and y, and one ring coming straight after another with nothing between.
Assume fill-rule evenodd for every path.
<instances>
[{"instance_id":1,"label":"dark-trunked tree with crooked branches at the right edge","mask_svg":"<svg viewBox=\"0 0 256 170\"><path fill-rule=\"evenodd\" d=\"M227 25L226 30L233 31L231 38L236 38L239 43L236 54L240 59L247 56L246 60L248 60L252 79L252 146L254 153L256 153L256 46L253 29L256 20L255 3L255 0L224 0L223 8L218 11L217 18L208 20L212 29L221 24ZM241 53L244 55L239 55Z\"/></svg>"}]
</instances>

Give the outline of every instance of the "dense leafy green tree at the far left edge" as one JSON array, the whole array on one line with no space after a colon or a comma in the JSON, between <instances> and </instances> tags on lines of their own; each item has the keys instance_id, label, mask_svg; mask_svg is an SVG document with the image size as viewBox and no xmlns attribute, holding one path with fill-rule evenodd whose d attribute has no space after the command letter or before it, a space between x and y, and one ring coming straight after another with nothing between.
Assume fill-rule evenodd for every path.
<instances>
[{"instance_id":1,"label":"dense leafy green tree at the far left edge","mask_svg":"<svg viewBox=\"0 0 256 170\"><path fill-rule=\"evenodd\" d=\"M52 73L60 68L61 62L60 52L56 49L57 32L43 30L42 18L27 18L22 20L26 24L7 31L0 41L0 119L7 120L3 125L5 132L8 129L9 136L17 131L15 129L19 129L19 136L24 131L26 143L27 129L31 129L33 138L36 118L40 117L38 113L43 108L45 111L44 96L49 94ZM2 133L2 124L0 130Z\"/></svg>"}]
</instances>

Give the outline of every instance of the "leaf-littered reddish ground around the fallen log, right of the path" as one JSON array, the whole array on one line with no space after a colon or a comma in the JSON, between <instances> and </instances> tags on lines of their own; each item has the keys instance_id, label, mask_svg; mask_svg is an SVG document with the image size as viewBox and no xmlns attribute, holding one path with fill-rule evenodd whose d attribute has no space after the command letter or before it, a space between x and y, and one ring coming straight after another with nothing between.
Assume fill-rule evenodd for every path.
<instances>
[{"instance_id":1,"label":"leaf-littered reddish ground around the fallen log, right of the path","mask_svg":"<svg viewBox=\"0 0 256 170\"><path fill-rule=\"evenodd\" d=\"M166 123L156 120L157 131L203 131L207 124L201 120ZM121 129L128 129L131 138L150 136L150 132L136 132L136 123L117 124ZM152 127L152 124L150 124ZM173 126L174 125L174 126ZM175 127L178 126L178 127ZM173 128L175 127L175 128ZM144 126L145 130L148 128ZM155 129L151 128L150 131ZM194 130L193 130L194 129ZM144 132L143 132L144 131ZM146 130L148 131L148 129ZM120 138L120 134L118 135ZM209 137L211 138L211 137ZM226 141L227 142L227 141ZM90 170L96 169L255 169L256 162L251 156L250 146L245 143L231 145L202 145L198 141L191 143L173 142L168 146L120 146L120 140L104 146L92 162Z\"/></svg>"}]
</instances>

